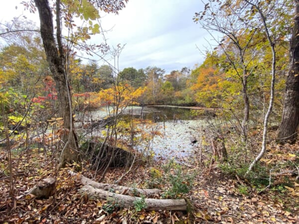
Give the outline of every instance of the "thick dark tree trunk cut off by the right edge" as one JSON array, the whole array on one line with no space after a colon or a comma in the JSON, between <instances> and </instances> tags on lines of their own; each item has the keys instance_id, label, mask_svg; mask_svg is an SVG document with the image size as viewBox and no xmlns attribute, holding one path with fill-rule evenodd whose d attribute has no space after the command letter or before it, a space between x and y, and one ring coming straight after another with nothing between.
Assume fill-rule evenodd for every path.
<instances>
[{"instance_id":1,"label":"thick dark tree trunk cut off by the right edge","mask_svg":"<svg viewBox=\"0 0 299 224\"><path fill-rule=\"evenodd\" d=\"M277 140L295 141L299 124L299 2L295 0L296 15L290 44L290 68L286 84L286 96L282 122Z\"/></svg>"}]
</instances>

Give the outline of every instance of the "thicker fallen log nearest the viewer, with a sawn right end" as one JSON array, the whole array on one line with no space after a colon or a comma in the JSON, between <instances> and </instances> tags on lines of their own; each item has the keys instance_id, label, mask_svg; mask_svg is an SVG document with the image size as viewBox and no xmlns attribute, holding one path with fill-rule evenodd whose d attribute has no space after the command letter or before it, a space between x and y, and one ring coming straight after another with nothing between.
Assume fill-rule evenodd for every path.
<instances>
[{"instance_id":1,"label":"thicker fallen log nearest the viewer, with a sawn right end","mask_svg":"<svg viewBox=\"0 0 299 224\"><path fill-rule=\"evenodd\" d=\"M91 198L97 198L101 200L113 200L118 202L120 207L129 208L134 207L134 202L142 200L140 197L133 197L129 195L116 194L109 191L104 191L95 188L91 185L85 185L81 188L82 194L86 194ZM187 203L184 199L144 199L146 203L145 210L147 211L186 211Z\"/></svg>"}]
</instances>

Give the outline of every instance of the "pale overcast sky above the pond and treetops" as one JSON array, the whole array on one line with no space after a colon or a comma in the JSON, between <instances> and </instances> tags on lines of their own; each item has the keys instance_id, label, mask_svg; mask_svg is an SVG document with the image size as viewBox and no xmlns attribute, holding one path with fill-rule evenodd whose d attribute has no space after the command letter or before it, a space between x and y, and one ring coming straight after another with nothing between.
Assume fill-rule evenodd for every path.
<instances>
[{"instance_id":1,"label":"pale overcast sky above the pond and treetops","mask_svg":"<svg viewBox=\"0 0 299 224\"><path fill-rule=\"evenodd\" d=\"M2 4L1 22L23 12L20 1ZM126 44L119 60L120 69L157 66L169 73L202 63L203 55L196 45L204 50L206 40L211 38L192 21L194 12L201 11L202 5L200 0L129 0L118 15L101 14L103 28L112 28L106 33L108 44ZM39 24L38 13L35 17L24 14ZM99 44L102 40L98 37L92 41Z\"/></svg>"}]
</instances>

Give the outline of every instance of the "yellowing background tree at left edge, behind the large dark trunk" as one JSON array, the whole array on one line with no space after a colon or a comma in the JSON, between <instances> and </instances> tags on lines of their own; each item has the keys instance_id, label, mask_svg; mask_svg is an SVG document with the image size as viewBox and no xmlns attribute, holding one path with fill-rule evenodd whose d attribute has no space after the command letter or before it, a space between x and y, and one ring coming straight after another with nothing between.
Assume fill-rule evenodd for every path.
<instances>
[{"instance_id":1,"label":"yellowing background tree at left edge, behind the large dark trunk","mask_svg":"<svg viewBox=\"0 0 299 224\"><path fill-rule=\"evenodd\" d=\"M1 39L6 43L0 51L0 70L8 85L17 87L23 93L34 85L34 92L38 93L38 84L41 84L38 81L48 71L40 34L29 31L7 32L5 27L34 30L35 24L30 20L20 21L14 18L0 26Z\"/></svg>"}]
</instances>

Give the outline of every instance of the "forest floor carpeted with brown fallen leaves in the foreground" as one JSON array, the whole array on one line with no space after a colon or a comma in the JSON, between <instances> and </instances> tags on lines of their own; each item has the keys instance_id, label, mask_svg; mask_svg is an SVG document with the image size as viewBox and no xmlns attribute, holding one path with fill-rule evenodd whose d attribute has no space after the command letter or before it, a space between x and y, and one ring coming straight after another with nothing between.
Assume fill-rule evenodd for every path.
<instances>
[{"instance_id":1,"label":"forest floor carpeted with brown fallen leaves in the foreground","mask_svg":"<svg viewBox=\"0 0 299 224\"><path fill-rule=\"evenodd\" d=\"M13 153L12 171L14 196L9 196L9 170L7 154L0 150L0 223L37 223L37 224L193 224L193 223L299 223L299 184L290 167L285 166L279 176L273 178L270 188L256 189L246 179L225 175L217 164L209 165L194 162L192 166L182 166L183 172L193 173L192 189L183 197L189 199L193 209L188 212L167 212L134 208L110 208L109 201L99 201L80 194L81 182L70 177L67 169L55 172L55 156L33 149L30 153ZM267 165L278 161L299 163L299 144L279 146L271 144L263 162ZM165 163L165 161L163 162ZM206 164L206 165L204 165ZM152 164L157 172L163 173L162 162ZM151 168L136 167L121 185L148 187L152 180ZM292 168L293 169L293 168ZM295 171L295 173L298 171ZM103 182L114 183L124 168L111 169ZM82 172L92 177L92 172ZM26 192L39 180L57 177L56 193L49 199L36 199ZM287 181L286 181L287 180ZM269 180L266 180L269 182ZM167 189L166 184L160 186ZM261 191L259 193L259 191Z\"/></svg>"}]
</instances>

